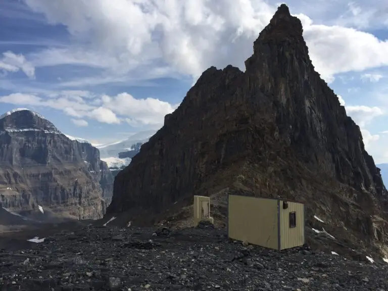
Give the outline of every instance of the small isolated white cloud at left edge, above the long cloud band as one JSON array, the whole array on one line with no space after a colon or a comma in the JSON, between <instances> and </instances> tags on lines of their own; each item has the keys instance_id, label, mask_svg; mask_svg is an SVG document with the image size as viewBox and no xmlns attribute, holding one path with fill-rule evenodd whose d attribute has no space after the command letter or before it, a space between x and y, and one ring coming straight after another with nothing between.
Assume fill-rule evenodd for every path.
<instances>
[{"instance_id":1,"label":"small isolated white cloud at left edge, above the long cloud band","mask_svg":"<svg viewBox=\"0 0 388 291\"><path fill-rule=\"evenodd\" d=\"M27 77L35 77L34 66L23 55L16 55L10 51L3 53L3 58L0 59L0 69L13 73L22 70Z\"/></svg>"}]
</instances>

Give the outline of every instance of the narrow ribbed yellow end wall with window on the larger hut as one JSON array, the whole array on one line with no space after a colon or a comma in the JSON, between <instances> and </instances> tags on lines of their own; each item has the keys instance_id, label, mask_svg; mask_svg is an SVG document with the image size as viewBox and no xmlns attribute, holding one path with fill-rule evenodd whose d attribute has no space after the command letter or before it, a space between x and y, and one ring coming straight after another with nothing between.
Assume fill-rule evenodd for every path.
<instances>
[{"instance_id":1,"label":"narrow ribbed yellow end wall with window on the larger hut","mask_svg":"<svg viewBox=\"0 0 388 291\"><path fill-rule=\"evenodd\" d=\"M303 246L305 243L305 214L304 205L296 202L287 202L288 208L283 209L280 201L280 250ZM289 213L296 213L296 227L289 227Z\"/></svg>"}]
</instances>

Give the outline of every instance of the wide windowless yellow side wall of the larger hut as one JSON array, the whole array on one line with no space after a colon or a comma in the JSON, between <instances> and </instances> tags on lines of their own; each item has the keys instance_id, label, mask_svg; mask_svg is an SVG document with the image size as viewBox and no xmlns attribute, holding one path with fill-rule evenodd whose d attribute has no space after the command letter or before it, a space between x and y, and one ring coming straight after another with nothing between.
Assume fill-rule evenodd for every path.
<instances>
[{"instance_id":1,"label":"wide windowless yellow side wall of the larger hut","mask_svg":"<svg viewBox=\"0 0 388 291\"><path fill-rule=\"evenodd\" d=\"M228 199L229 237L277 250L277 200L237 195Z\"/></svg>"}]
</instances>

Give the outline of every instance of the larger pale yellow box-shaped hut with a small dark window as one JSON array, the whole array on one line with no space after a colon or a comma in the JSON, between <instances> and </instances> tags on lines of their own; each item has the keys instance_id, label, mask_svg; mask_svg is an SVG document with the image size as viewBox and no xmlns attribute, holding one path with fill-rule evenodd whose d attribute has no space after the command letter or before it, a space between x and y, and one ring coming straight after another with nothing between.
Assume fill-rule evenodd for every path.
<instances>
[{"instance_id":1,"label":"larger pale yellow box-shaped hut with a small dark window","mask_svg":"<svg viewBox=\"0 0 388 291\"><path fill-rule=\"evenodd\" d=\"M304 245L304 205L282 199L228 196L228 236L274 250Z\"/></svg>"}]
</instances>

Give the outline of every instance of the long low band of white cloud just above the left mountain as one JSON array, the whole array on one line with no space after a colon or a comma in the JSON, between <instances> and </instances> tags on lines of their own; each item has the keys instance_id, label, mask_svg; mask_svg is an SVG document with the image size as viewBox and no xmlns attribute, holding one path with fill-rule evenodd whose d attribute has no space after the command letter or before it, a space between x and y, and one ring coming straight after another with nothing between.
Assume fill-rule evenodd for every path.
<instances>
[{"instance_id":1,"label":"long low band of white cloud just above the left mountain","mask_svg":"<svg viewBox=\"0 0 388 291\"><path fill-rule=\"evenodd\" d=\"M136 99L129 93L96 96L88 91L62 91L44 96L13 93L0 96L0 103L61 110L73 117L71 121L78 126L87 126L87 121L83 119L91 118L108 124L127 122L132 126L160 127L164 116L177 107L154 98Z\"/></svg>"}]
</instances>

